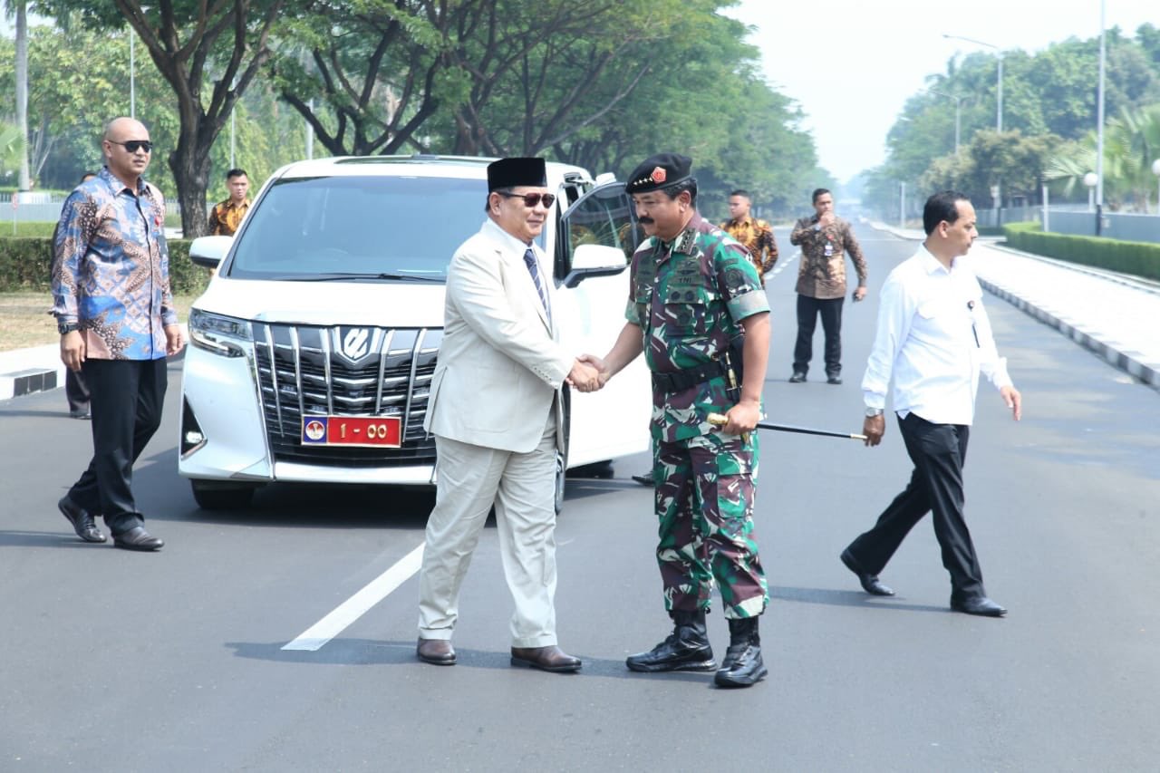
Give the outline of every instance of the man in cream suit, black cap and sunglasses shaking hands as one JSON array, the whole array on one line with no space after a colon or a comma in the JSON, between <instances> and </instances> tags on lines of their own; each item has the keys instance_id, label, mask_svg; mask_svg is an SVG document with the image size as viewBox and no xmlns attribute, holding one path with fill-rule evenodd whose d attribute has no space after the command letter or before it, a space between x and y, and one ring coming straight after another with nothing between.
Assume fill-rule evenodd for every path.
<instances>
[{"instance_id":1,"label":"man in cream suit, black cap and sunglasses shaking hands","mask_svg":"<svg viewBox=\"0 0 1160 773\"><path fill-rule=\"evenodd\" d=\"M556 450L560 389L599 389L552 326L551 270L534 243L554 201L539 158L487 167L487 221L456 251L423 428L438 458L419 575L419 658L454 665L459 588L495 506L515 601L512 665L580 669L556 638Z\"/></svg>"}]
</instances>

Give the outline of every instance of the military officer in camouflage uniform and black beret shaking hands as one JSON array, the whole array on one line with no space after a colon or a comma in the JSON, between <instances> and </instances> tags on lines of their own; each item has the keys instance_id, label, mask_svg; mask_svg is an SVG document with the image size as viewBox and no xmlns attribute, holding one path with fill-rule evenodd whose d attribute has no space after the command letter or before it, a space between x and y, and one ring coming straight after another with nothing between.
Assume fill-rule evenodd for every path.
<instances>
[{"instance_id":1,"label":"military officer in camouflage uniform and black beret shaking hands","mask_svg":"<svg viewBox=\"0 0 1160 773\"><path fill-rule=\"evenodd\" d=\"M673 634L629 657L633 671L711 671L705 631L713 583L730 627L716 682L747 687L766 673L757 619L769 595L753 529L769 304L745 250L696 211L684 156L662 153L630 176L646 239L632 257L628 323L589 357L607 380L641 352L653 382L657 559ZM744 360L744 375L741 373ZM725 414L724 426L709 422Z\"/></svg>"}]
</instances>

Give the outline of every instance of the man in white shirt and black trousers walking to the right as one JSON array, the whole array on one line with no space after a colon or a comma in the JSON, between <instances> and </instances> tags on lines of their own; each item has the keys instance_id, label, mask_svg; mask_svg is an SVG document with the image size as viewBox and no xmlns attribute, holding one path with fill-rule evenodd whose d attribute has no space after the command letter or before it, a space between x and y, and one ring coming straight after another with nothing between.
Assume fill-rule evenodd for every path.
<instances>
[{"instance_id":1,"label":"man in white shirt and black trousers walking to the right","mask_svg":"<svg viewBox=\"0 0 1160 773\"><path fill-rule=\"evenodd\" d=\"M950 572L950 607L1001 617L1007 609L987 598L983 570L963 518L963 462L983 373L1018 421L1022 398L999 356L983 308L983 289L959 258L978 237L974 208L963 194L944 190L922 211L926 241L886 277L862 393L867 446L886 431L886 389L894 380L893 410L914 462L911 482L878 516L873 528L842 552L842 563L875 595L894 592L878 579L911 528L934 515L943 566Z\"/></svg>"}]
</instances>

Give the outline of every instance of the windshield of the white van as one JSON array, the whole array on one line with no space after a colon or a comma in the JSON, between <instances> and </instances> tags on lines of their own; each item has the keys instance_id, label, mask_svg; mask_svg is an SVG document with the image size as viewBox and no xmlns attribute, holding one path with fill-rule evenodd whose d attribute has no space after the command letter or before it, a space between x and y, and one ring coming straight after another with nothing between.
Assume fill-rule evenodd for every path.
<instances>
[{"instance_id":1,"label":"windshield of the white van","mask_svg":"<svg viewBox=\"0 0 1160 773\"><path fill-rule=\"evenodd\" d=\"M258 202L229 275L237 279L447 279L484 222L487 183L447 178L280 180Z\"/></svg>"}]
</instances>

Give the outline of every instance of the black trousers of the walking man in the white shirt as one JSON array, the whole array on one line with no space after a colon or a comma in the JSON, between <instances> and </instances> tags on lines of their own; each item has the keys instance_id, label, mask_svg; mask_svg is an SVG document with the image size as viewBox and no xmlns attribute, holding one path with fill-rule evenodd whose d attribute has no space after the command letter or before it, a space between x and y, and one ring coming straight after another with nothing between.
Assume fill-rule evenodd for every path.
<instances>
[{"instance_id":1,"label":"black trousers of the walking man in the white shirt","mask_svg":"<svg viewBox=\"0 0 1160 773\"><path fill-rule=\"evenodd\" d=\"M935 537L942 548L943 566L950 572L955 598L986 595L983 570L974 554L971 532L963 518L963 463L971 428L956 424L931 424L909 413L898 427L914 472L906 490L890 503L869 532L849 546L857 564L871 575L885 569L911 528L933 513Z\"/></svg>"}]
</instances>

